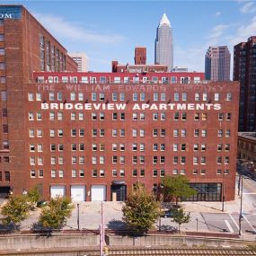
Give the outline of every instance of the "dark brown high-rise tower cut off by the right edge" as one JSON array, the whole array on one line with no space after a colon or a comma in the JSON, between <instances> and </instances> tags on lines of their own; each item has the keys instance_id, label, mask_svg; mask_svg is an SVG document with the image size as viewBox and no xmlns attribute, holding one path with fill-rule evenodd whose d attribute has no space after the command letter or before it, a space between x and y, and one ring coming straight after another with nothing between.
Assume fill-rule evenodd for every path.
<instances>
[{"instance_id":1,"label":"dark brown high-rise tower cut off by the right edge","mask_svg":"<svg viewBox=\"0 0 256 256\"><path fill-rule=\"evenodd\" d=\"M240 131L256 130L256 36L234 46L233 80L240 81Z\"/></svg>"}]
</instances>

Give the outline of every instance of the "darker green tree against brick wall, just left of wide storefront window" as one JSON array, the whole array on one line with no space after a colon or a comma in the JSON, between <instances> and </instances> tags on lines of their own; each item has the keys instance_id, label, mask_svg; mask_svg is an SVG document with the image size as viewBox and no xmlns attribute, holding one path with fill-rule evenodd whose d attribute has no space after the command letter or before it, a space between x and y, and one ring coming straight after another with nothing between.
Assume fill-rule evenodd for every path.
<instances>
[{"instance_id":1,"label":"darker green tree against brick wall, just left of wide storefront window","mask_svg":"<svg viewBox=\"0 0 256 256\"><path fill-rule=\"evenodd\" d=\"M190 188L190 180L184 175L165 176L162 184L164 196L174 198L176 206L181 198L189 198L197 193Z\"/></svg>"}]
</instances>

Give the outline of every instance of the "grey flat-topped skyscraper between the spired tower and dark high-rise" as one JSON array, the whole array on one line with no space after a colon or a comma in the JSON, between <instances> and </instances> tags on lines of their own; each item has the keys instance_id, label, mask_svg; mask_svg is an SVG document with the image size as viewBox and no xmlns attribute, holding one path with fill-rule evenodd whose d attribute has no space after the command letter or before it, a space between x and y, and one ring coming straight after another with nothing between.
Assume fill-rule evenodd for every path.
<instances>
[{"instance_id":1,"label":"grey flat-topped skyscraper between the spired tower and dark high-rise","mask_svg":"<svg viewBox=\"0 0 256 256\"><path fill-rule=\"evenodd\" d=\"M209 47L205 57L206 80L230 80L230 52L226 46Z\"/></svg>"}]
</instances>

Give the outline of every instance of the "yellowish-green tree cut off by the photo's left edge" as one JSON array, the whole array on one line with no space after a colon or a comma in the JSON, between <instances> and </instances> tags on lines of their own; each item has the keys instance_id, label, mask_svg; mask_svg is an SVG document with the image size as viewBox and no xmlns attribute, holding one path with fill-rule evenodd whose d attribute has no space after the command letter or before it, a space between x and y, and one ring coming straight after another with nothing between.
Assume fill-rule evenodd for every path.
<instances>
[{"instance_id":1,"label":"yellowish-green tree cut off by the photo's left edge","mask_svg":"<svg viewBox=\"0 0 256 256\"><path fill-rule=\"evenodd\" d=\"M26 195L11 196L4 207L1 208L2 223L4 225L14 224L15 226L26 219L29 215L30 205Z\"/></svg>"}]
</instances>

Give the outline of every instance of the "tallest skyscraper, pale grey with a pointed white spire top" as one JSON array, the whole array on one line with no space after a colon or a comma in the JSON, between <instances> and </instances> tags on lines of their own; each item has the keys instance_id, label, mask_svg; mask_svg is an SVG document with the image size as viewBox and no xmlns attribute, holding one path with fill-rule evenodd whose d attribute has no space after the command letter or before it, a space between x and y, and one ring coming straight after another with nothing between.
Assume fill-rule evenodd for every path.
<instances>
[{"instance_id":1,"label":"tallest skyscraper, pale grey with a pointed white spire top","mask_svg":"<svg viewBox=\"0 0 256 256\"><path fill-rule=\"evenodd\" d=\"M168 71L173 68L172 26L165 13L156 29L154 64L167 65Z\"/></svg>"}]
</instances>

